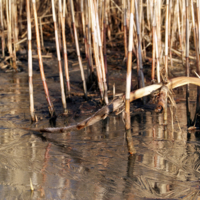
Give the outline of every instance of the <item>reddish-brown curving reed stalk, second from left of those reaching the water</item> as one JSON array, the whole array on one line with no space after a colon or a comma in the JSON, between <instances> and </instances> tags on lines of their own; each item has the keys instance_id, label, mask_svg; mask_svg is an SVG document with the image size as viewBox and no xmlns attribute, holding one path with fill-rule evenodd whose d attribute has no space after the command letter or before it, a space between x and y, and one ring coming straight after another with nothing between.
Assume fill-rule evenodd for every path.
<instances>
[{"instance_id":1,"label":"reddish-brown curving reed stalk, second from left of those reaching the water","mask_svg":"<svg viewBox=\"0 0 200 200\"><path fill-rule=\"evenodd\" d=\"M43 86L44 86L44 92L45 92L45 96L46 96L46 99L47 99L47 103L48 103L48 106L49 106L49 113L50 113L51 117L55 117L55 111L54 111L53 103L50 100L49 90L48 90L48 86L47 86L46 78L45 78L45 74L44 74L44 67L43 67L43 61L42 61L42 56L41 56L41 47L40 47L40 35L39 35L39 29L38 29L38 17L37 17L35 0L32 0L32 6L33 6L33 13L34 13L34 20L35 20L37 53L38 53L38 59L39 59L41 79L42 79L42 83L43 83Z\"/></svg>"}]
</instances>

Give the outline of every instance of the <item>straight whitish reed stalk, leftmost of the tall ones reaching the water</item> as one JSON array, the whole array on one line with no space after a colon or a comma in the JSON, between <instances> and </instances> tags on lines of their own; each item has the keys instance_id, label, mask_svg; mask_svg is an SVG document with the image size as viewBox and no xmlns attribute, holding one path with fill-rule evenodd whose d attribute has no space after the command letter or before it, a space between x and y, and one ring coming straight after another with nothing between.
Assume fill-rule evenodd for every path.
<instances>
[{"instance_id":1,"label":"straight whitish reed stalk, leftmost of the tall ones reaching the water","mask_svg":"<svg viewBox=\"0 0 200 200\"><path fill-rule=\"evenodd\" d=\"M29 2L29 0L26 0L26 12L27 12L27 32L28 32L28 76L29 76L30 115L31 115L31 121L36 122L37 117L35 115L35 110L34 110L34 96L33 96L31 17L30 17L30 2Z\"/></svg>"}]
</instances>

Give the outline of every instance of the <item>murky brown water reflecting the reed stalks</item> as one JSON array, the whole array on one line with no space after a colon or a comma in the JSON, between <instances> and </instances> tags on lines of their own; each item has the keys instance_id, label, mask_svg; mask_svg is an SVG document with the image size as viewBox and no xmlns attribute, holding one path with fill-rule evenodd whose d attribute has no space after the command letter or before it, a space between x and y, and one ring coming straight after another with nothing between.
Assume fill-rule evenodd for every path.
<instances>
[{"instance_id":1,"label":"murky brown water reflecting the reed stalks","mask_svg":"<svg viewBox=\"0 0 200 200\"><path fill-rule=\"evenodd\" d=\"M78 118L61 116L58 74L51 76L57 68L46 70L57 126L86 118L88 113ZM41 137L20 129L49 126L39 72L34 72L40 119L36 125L30 123L26 70L1 73L0 83L0 199L200 198L200 133L187 133L185 101L177 104L181 130L174 116L172 131L170 111L167 127L162 124L162 114L133 113L137 153L129 156L121 115L111 115L84 130ZM179 93L177 96L184 98L183 90ZM190 106L194 110L194 101Z\"/></svg>"}]
</instances>

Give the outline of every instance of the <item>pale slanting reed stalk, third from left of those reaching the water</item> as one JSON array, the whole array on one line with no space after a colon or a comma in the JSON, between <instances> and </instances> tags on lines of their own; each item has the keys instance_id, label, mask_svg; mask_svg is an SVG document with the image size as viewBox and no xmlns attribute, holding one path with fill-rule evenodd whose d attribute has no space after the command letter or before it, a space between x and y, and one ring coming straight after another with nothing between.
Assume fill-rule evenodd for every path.
<instances>
[{"instance_id":1,"label":"pale slanting reed stalk, third from left of those reaching the water","mask_svg":"<svg viewBox=\"0 0 200 200\"><path fill-rule=\"evenodd\" d=\"M66 113L67 112L67 103L66 103L66 98L65 98L62 63L61 63L61 56L60 56L60 46L59 46L59 38L58 38L58 26L57 26L57 21L56 21L54 0L51 0L51 2L52 2L52 13L53 13L54 30L55 30L55 42L56 42L56 51L57 51L57 59L58 59L58 69L59 69L59 77L60 77L61 98L62 98L62 104L63 104L64 113ZM61 0L59 0L59 3L61 3ZM61 8L61 6L59 6L59 8ZM59 11L59 12L62 13L62 10Z\"/></svg>"}]
</instances>

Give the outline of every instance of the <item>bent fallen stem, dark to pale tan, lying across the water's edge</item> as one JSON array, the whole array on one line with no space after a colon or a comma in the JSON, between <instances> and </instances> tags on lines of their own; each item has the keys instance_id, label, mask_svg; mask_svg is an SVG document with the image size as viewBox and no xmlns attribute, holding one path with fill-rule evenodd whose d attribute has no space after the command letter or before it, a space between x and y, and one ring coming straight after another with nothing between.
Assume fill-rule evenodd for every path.
<instances>
[{"instance_id":1,"label":"bent fallen stem, dark to pale tan, lying across the water's edge","mask_svg":"<svg viewBox=\"0 0 200 200\"><path fill-rule=\"evenodd\" d=\"M153 85L146 86L144 88L140 88L138 90L131 92L130 101L134 101L136 99L150 95L152 92L160 89L162 86L166 86L168 89L174 89L174 88L181 87L187 84L194 84L194 85L200 86L200 81L198 78L193 78L193 77L173 78L169 80L166 84L163 84L163 83L153 84ZM125 99L124 95L116 97L109 105L102 107L100 110L94 113L91 117L88 117L87 119L75 125L71 125L67 127L56 127L56 128L49 127L49 128L23 128L23 129L38 131L38 132L49 132L49 133L62 133L62 132L71 131L74 129L80 130L87 126L91 126L102 119L105 119L110 113L119 112L120 110L123 110L124 105L125 105L124 99Z\"/></svg>"}]
</instances>

